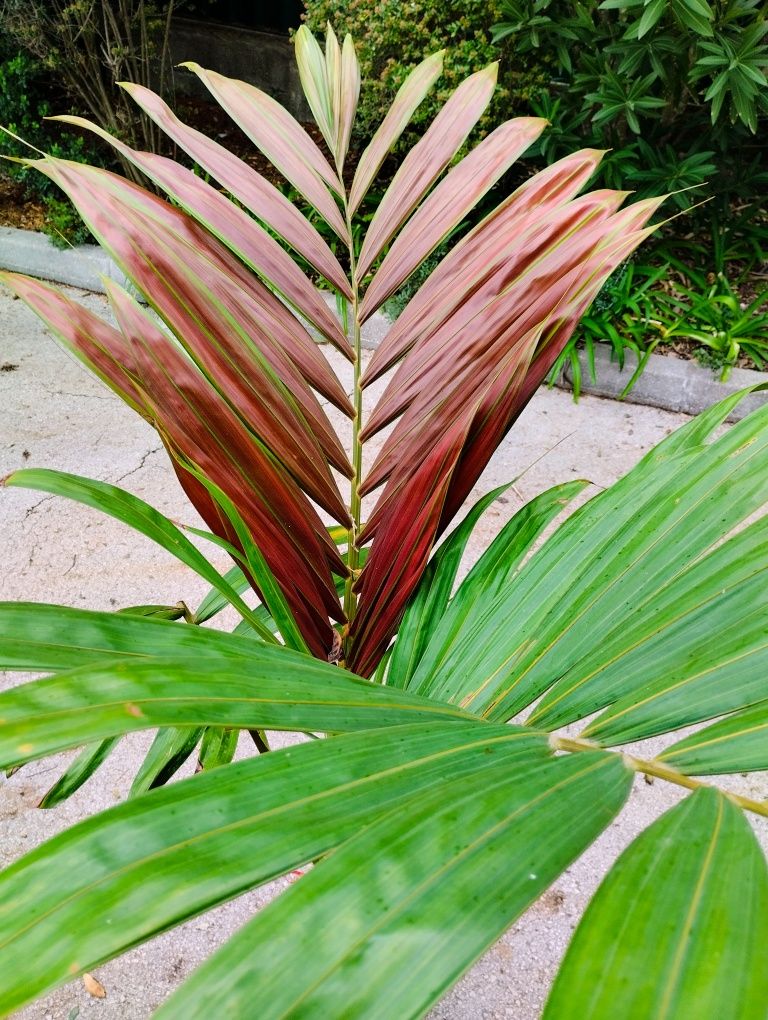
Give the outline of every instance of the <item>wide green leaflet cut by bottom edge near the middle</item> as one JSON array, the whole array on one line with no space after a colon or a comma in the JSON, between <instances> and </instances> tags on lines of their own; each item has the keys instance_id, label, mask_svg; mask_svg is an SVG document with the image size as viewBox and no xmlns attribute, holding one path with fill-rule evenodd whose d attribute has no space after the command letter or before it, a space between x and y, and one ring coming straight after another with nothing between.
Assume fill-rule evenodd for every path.
<instances>
[{"instance_id":1,"label":"wide green leaflet cut by bottom edge near the middle","mask_svg":"<svg viewBox=\"0 0 768 1020\"><path fill-rule=\"evenodd\" d=\"M578 758L579 760L576 760ZM624 804L613 756L491 766L363 830L266 907L157 1016L422 1016ZM328 924L335 918L338 923ZM317 932L322 931L322 938Z\"/></svg>"}]
</instances>

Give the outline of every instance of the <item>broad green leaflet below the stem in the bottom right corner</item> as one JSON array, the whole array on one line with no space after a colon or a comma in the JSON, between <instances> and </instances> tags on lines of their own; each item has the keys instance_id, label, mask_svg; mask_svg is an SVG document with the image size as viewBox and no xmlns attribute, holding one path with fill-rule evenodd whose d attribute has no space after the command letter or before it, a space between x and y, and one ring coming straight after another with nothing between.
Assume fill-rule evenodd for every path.
<instances>
[{"instance_id":1,"label":"broad green leaflet below the stem in the bottom right corner","mask_svg":"<svg viewBox=\"0 0 768 1020\"><path fill-rule=\"evenodd\" d=\"M768 868L749 823L700 789L621 855L576 929L545 1020L764 1020Z\"/></svg>"}]
</instances>

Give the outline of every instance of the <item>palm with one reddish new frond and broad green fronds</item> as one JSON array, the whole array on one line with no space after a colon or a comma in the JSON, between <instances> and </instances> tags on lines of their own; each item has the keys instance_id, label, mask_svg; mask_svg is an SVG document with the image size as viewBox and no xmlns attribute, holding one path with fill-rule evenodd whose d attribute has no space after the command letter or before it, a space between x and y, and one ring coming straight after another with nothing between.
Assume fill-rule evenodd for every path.
<instances>
[{"instance_id":1,"label":"palm with one reddish new frond and broad green fronds","mask_svg":"<svg viewBox=\"0 0 768 1020\"><path fill-rule=\"evenodd\" d=\"M449 531L452 519L657 203L578 197L601 154L561 160L449 252L363 370L363 323L545 123L502 124L454 164L494 89L495 68L473 74L357 246L356 212L441 55L411 73L353 174L352 42L328 31L323 52L301 30L297 51L327 153L257 89L189 66L347 246L348 271L276 189L145 88L125 86L222 191L74 118L171 202L105 170L35 164L149 310L109 283L115 327L45 284L2 278L157 429L210 529L196 533L234 566L221 574L116 487L5 479L101 508L212 590L197 612L0 605L0 666L49 674L0 696L0 764L86 745L47 804L122 734L159 727L137 796L0 875L0 1010L314 862L159 1015L246 1017L254 1002L269 1017L419 1015L646 773L693 793L599 890L547 1016L762 1018L768 869L745 812L768 806L694 777L768 768L768 523L747 523L764 499L768 410L713 441L740 395L727 398L542 542L585 482L543 493L457 588L500 493ZM291 252L346 302L349 329ZM310 328L352 365L351 396ZM364 421L363 393L390 370ZM351 421L349 453L328 404ZM235 632L201 625L226 605ZM656 758L609 750L718 717ZM323 738L231 764L238 731L267 750L265 729ZM146 792L198 747L201 774Z\"/></svg>"}]
</instances>

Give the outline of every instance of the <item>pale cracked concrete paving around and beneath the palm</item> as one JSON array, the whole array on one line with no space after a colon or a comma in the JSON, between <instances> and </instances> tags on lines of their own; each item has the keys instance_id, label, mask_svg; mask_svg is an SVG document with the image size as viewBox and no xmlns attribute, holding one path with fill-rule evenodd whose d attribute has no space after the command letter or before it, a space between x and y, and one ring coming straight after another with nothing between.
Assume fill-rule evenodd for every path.
<instances>
[{"instance_id":1,"label":"pale cracked concrete paving around and beneath the palm","mask_svg":"<svg viewBox=\"0 0 768 1020\"><path fill-rule=\"evenodd\" d=\"M102 309L103 299L82 296ZM21 302L0 293L0 477L22 466L56 467L106 481L127 481L131 492L168 516L198 523L154 431L113 398L48 339ZM349 385L350 368L329 355ZM367 401L380 393L372 388ZM98 399L92 399L98 398ZM503 481L514 486L488 512L469 559L526 500L557 481L587 477L610 484L683 415L597 398L574 405L568 394L541 391L495 455L472 499ZM340 431L348 431L348 422ZM39 600L95 609L184 600L196 606L207 585L148 540L94 510L18 489L0 490L2 598ZM211 559L225 566L218 551ZM24 677L8 677L6 683ZM34 763L0 778L0 860L10 863L68 825L124 798L151 741L124 740L98 775L52 811L36 808L71 755ZM252 748L242 743L239 754ZM191 766L186 770L190 771ZM728 779L748 796L768 794L764 775ZM616 855L680 794L664 783L635 783L627 809L587 853L554 883L470 973L433 1010L440 1020L539 1015L547 988L586 902ZM756 825L768 846L768 825ZM106 999L91 999L71 982L21 1010L17 1020L146 1020L152 1010L251 916L291 881L280 879L169 931L95 969ZM95 918L94 923L99 923Z\"/></svg>"}]
</instances>

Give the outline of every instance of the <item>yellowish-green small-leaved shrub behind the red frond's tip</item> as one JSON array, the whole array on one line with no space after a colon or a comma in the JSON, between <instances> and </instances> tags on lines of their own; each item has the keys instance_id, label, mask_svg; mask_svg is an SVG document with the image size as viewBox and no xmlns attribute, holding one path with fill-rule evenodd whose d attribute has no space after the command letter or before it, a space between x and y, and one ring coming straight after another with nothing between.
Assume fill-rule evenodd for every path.
<instances>
[{"instance_id":1,"label":"yellowish-green small-leaved shrub behind the red frond's tip","mask_svg":"<svg viewBox=\"0 0 768 1020\"><path fill-rule=\"evenodd\" d=\"M408 71L427 53L446 49L443 78L416 111L404 151L418 137L448 96L468 74L501 60L499 88L480 129L506 120L545 83L539 61L512 59L512 47L494 46L491 29L502 16L499 0L306 0L305 20L315 33L330 21L350 33L357 45L363 79L356 132L369 138L381 122Z\"/></svg>"}]
</instances>

